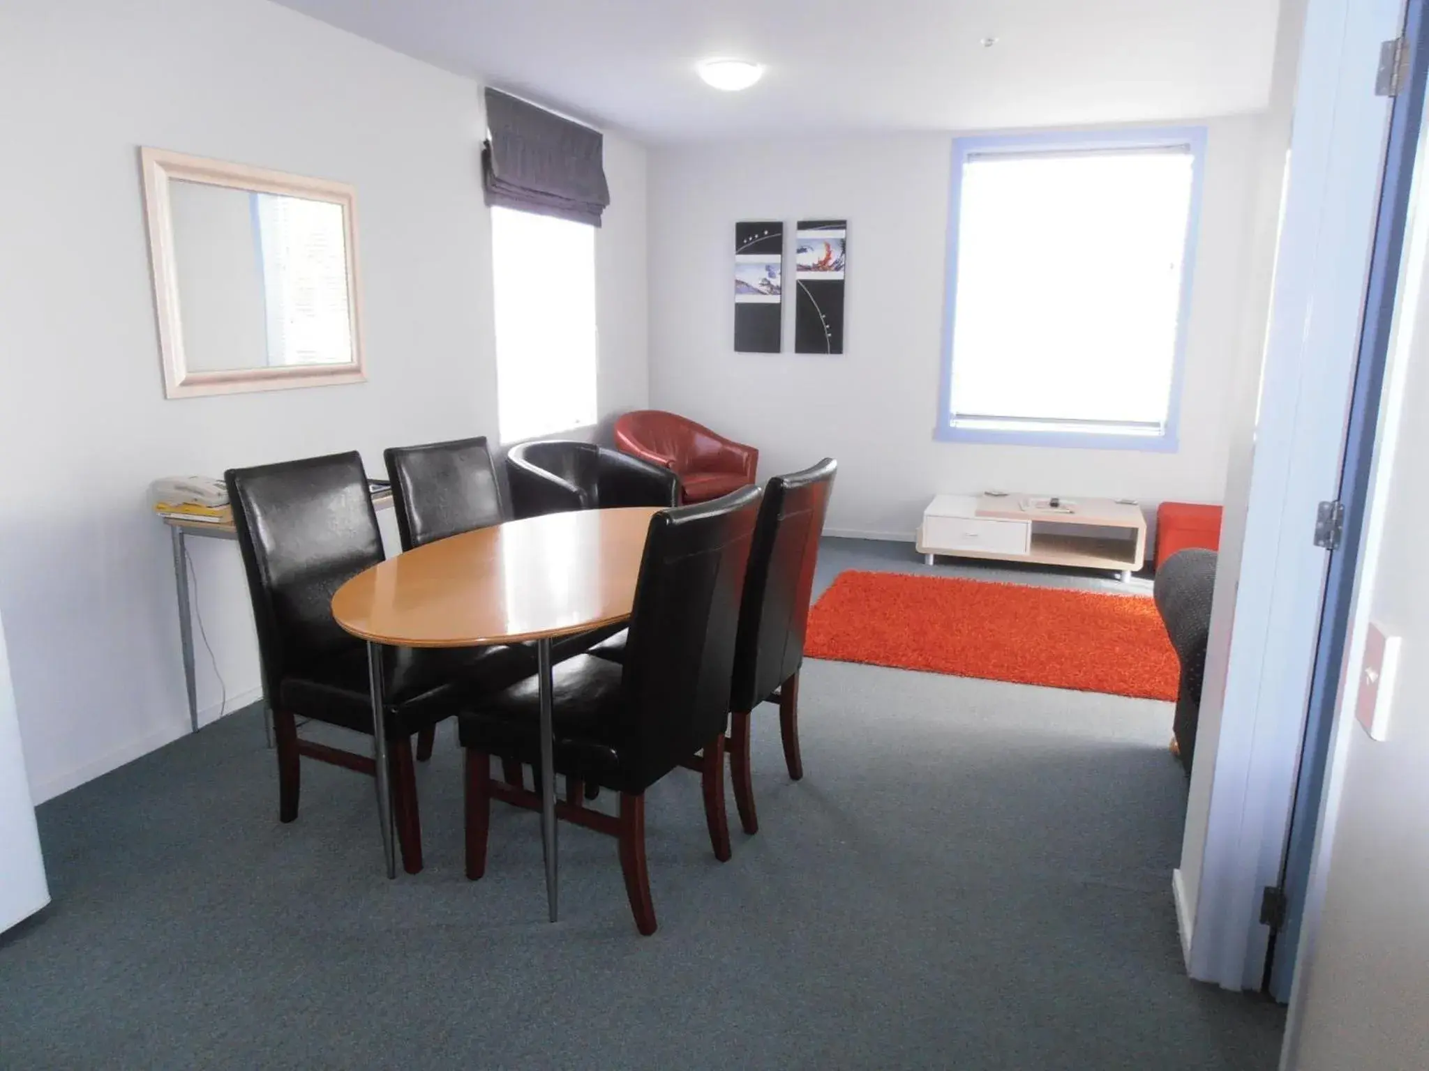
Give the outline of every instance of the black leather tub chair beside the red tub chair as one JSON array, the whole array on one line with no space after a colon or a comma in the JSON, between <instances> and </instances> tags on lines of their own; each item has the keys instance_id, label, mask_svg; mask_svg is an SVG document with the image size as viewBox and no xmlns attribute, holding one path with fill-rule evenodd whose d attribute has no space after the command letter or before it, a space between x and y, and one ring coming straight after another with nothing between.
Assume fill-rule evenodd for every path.
<instances>
[{"instance_id":1,"label":"black leather tub chair beside the red tub chair","mask_svg":"<svg viewBox=\"0 0 1429 1071\"><path fill-rule=\"evenodd\" d=\"M677 506L680 480L669 468L593 443L522 443L506 454L516 517L620 506Z\"/></svg>"}]
</instances>

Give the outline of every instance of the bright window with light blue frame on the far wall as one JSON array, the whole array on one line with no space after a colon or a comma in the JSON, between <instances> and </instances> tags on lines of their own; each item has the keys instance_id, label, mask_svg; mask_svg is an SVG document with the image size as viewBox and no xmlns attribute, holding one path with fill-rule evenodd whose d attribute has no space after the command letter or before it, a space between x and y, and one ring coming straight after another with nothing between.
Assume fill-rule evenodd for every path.
<instances>
[{"instance_id":1,"label":"bright window with light blue frame on the far wall","mask_svg":"<svg viewBox=\"0 0 1429 1071\"><path fill-rule=\"evenodd\" d=\"M957 143L940 438L1176 448L1203 149Z\"/></svg>"}]
</instances>

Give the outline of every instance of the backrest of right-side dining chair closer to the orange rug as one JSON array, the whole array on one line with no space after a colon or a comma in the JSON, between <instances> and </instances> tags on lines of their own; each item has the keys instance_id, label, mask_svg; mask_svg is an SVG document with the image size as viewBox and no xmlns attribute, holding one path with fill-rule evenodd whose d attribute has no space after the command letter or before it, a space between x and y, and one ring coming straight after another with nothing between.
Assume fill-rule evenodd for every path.
<instances>
[{"instance_id":1,"label":"backrest of right-side dining chair closer to the orange rug","mask_svg":"<svg viewBox=\"0 0 1429 1071\"><path fill-rule=\"evenodd\" d=\"M826 457L765 487L739 614L732 710L753 710L803 661L819 537L837 467Z\"/></svg>"}]
</instances>

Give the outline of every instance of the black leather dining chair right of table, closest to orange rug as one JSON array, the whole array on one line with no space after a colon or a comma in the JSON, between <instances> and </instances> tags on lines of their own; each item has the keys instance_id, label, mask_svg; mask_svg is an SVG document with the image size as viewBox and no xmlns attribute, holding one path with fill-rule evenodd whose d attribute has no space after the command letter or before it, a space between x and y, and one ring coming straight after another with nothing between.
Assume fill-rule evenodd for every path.
<instances>
[{"instance_id":1,"label":"black leather dining chair right of table, closest to orange rug","mask_svg":"<svg viewBox=\"0 0 1429 1071\"><path fill-rule=\"evenodd\" d=\"M819 538L837 468L837 463L826 457L810 468L776 476L765 484L765 501L759 507L749 571L745 574L730 687L729 765L745 833L759 831L749 737L750 711L760 703L779 704L785 765L795 781L803 777L799 670L809 630Z\"/></svg>"}]
</instances>

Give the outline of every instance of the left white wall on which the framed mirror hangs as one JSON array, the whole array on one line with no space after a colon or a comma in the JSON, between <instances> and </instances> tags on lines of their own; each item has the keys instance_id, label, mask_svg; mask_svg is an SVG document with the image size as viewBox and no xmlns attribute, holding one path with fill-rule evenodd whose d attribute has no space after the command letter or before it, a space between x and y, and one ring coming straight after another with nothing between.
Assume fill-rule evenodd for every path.
<instances>
[{"instance_id":1,"label":"left white wall on which the framed mirror hangs","mask_svg":"<svg viewBox=\"0 0 1429 1071\"><path fill-rule=\"evenodd\" d=\"M0 26L0 613L43 800L186 731L147 483L496 431L476 83L266 0L10 0ZM137 147L353 183L369 381L166 401ZM607 140L602 410L644 401L643 151ZM231 710L233 544L190 541ZM199 645L204 718L220 688Z\"/></svg>"}]
</instances>

